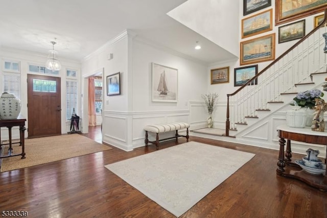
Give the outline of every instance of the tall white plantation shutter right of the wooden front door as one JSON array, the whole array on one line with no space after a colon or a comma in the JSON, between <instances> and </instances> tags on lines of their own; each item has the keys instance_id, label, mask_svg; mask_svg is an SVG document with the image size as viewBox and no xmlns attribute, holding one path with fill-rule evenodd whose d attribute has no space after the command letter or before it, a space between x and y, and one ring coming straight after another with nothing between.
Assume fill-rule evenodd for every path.
<instances>
[{"instance_id":1,"label":"tall white plantation shutter right of the wooden front door","mask_svg":"<svg viewBox=\"0 0 327 218\"><path fill-rule=\"evenodd\" d=\"M71 119L73 110L77 113L77 81L66 81L66 119Z\"/></svg>"}]
</instances>

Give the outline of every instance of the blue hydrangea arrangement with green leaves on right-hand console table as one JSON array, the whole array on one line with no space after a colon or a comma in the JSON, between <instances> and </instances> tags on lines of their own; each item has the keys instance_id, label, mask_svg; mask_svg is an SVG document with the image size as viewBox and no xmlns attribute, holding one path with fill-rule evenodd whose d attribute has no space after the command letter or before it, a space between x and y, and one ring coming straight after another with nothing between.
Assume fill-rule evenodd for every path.
<instances>
[{"instance_id":1,"label":"blue hydrangea arrangement with green leaves on right-hand console table","mask_svg":"<svg viewBox=\"0 0 327 218\"><path fill-rule=\"evenodd\" d=\"M293 102L290 105L300 106L300 107L309 107L314 108L315 99L321 99L323 97L323 92L317 89L309 90L306 92L299 92L295 98L293 98Z\"/></svg>"}]
</instances>

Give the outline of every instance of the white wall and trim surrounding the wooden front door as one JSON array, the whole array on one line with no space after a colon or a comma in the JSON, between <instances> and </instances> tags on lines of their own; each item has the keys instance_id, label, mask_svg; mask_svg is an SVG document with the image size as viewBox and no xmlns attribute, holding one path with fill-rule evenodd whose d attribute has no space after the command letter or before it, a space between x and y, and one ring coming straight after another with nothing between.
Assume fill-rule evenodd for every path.
<instances>
[{"instance_id":1,"label":"white wall and trim surrounding the wooden front door","mask_svg":"<svg viewBox=\"0 0 327 218\"><path fill-rule=\"evenodd\" d=\"M14 50L9 48L1 48L0 50L0 58L1 58L1 76L0 76L0 91L3 92L3 60L13 60L20 61L20 101L21 101L21 111L20 115L27 119L26 127L28 128L28 110L27 110L27 74L35 74L31 73L28 70L29 64L38 64L38 66L45 66L45 61L47 56L43 54L35 54L28 51ZM66 134L69 131L70 122L66 122L66 69L74 69L77 71L76 80L78 83L80 82L80 63L75 60L68 60L64 58L58 57L61 63L61 70L59 71L59 75L48 75L54 77L61 77L61 133ZM44 74L39 74L44 75ZM79 86L78 86L79 87ZM80 95L80 90L78 92ZM81 101L78 99L78 108L76 108L76 113L80 113ZM83 128L83 127L82 127ZM18 128L13 128L13 136L12 138L19 138ZM1 136L2 140L8 138L8 129L1 128ZM27 137L27 132L25 133Z\"/></svg>"}]
</instances>

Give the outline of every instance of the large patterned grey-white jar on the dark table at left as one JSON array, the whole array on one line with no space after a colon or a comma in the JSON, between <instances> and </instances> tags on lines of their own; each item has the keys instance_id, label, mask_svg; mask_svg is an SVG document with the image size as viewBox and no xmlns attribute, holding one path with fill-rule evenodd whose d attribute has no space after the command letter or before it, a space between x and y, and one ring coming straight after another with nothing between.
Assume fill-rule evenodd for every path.
<instances>
[{"instance_id":1,"label":"large patterned grey-white jar on the dark table at left","mask_svg":"<svg viewBox=\"0 0 327 218\"><path fill-rule=\"evenodd\" d=\"M0 119L11 120L17 119L20 113L20 100L13 94L4 92L0 98Z\"/></svg>"}]
</instances>

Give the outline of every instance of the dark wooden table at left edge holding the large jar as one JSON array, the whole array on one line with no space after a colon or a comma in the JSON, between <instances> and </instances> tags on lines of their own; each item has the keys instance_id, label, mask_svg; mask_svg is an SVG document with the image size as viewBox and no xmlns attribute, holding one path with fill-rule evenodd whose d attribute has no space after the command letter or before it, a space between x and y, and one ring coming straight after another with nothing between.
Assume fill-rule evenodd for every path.
<instances>
[{"instance_id":1,"label":"dark wooden table at left edge holding the large jar","mask_svg":"<svg viewBox=\"0 0 327 218\"><path fill-rule=\"evenodd\" d=\"M8 158L8 157L19 156L19 155L21 155L21 159L26 158L25 157L25 130L26 130L25 121L26 119L23 119L21 117L12 120L0 120L0 127L7 127L9 131L9 143L6 144L1 144L1 131L0 131L0 149L2 149L2 145L9 145L8 155L0 156L0 158ZM11 129L13 126L19 126L19 142L12 143L11 141ZM18 143L21 146L21 153L14 154L12 144L18 144Z\"/></svg>"}]
</instances>

